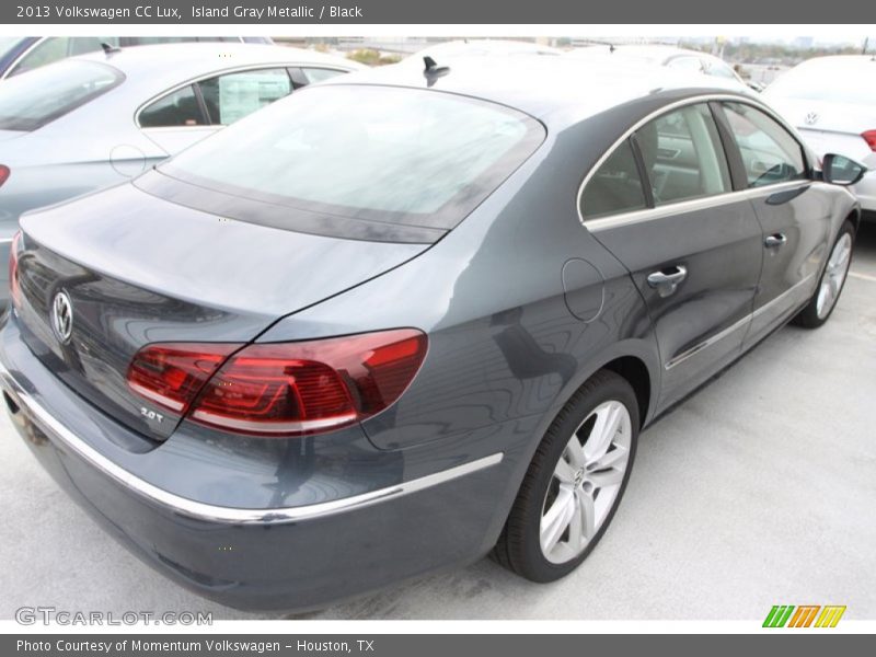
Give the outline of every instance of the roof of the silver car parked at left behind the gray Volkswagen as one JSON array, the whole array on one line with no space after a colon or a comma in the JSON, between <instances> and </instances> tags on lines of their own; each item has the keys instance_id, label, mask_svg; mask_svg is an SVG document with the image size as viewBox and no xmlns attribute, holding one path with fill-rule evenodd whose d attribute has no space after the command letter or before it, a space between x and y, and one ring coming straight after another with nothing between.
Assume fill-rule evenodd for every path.
<instances>
[{"instance_id":1,"label":"roof of the silver car parked at left behind the gray Volkswagen","mask_svg":"<svg viewBox=\"0 0 876 657\"><path fill-rule=\"evenodd\" d=\"M264 44L185 43L119 48L90 53L67 61L95 61L108 65L126 77L125 87L137 85L143 100L187 80L223 70L261 65L322 66L360 70L362 65L302 48Z\"/></svg>"}]
</instances>

